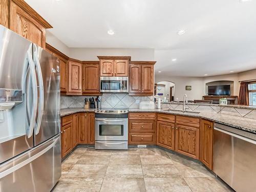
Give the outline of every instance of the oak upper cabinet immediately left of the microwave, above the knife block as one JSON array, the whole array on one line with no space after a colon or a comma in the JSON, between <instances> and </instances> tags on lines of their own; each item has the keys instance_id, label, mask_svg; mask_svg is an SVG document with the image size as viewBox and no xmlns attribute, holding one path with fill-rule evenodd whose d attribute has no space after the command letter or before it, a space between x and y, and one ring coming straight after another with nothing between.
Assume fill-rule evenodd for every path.
<instances>
[{"instance_id":1,"label":"oak upper cabinet immediately left of the microwave, above the knife block","mask_svg":"<svg viewBox=\"0 0 256 192\"><path fill-rule=\"evenodd\" d=\"M99 93L99 63L89 63L82 65L82 92Z\"/></svg>"}]
</instances>

